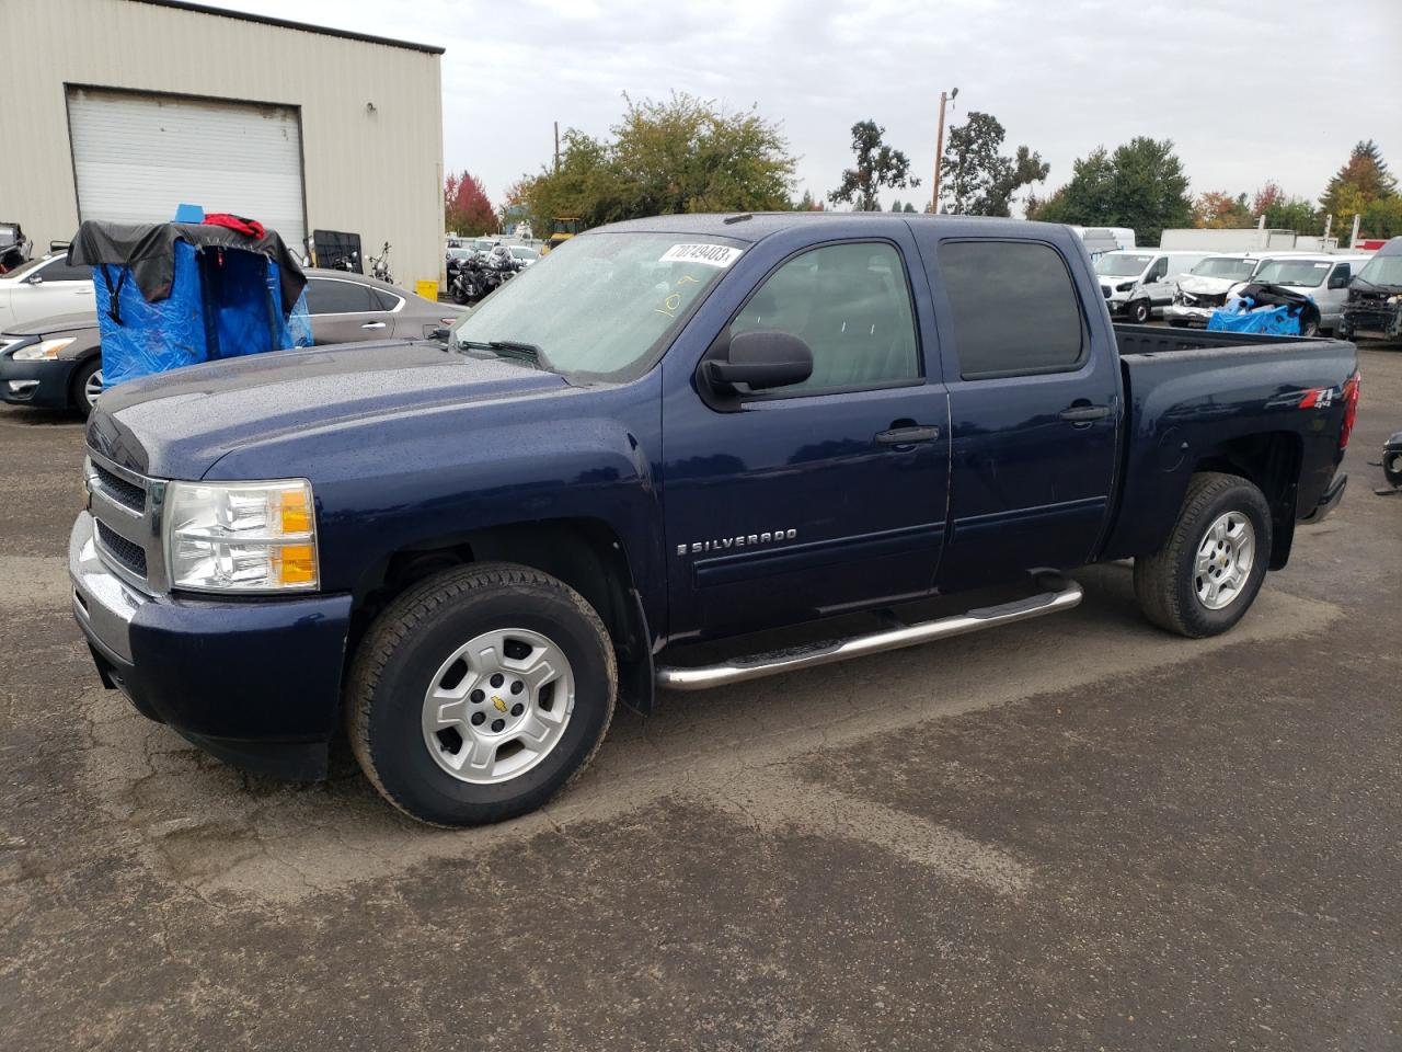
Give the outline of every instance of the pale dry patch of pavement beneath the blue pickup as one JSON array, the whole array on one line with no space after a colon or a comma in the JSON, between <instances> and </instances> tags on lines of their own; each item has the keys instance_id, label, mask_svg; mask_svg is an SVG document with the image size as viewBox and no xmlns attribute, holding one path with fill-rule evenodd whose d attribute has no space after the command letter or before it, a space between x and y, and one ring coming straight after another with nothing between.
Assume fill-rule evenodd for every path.
<instances>
[{"instance_id":1,"label":"pale dry patch of pavement beneath the blue pickup","mask_svg":"<svg viewBox=\"0 0 1402 1052\"><path fill-rule=\"evenodd\" d=\"M799 780L785 767L931 720L1315 633L1342 613L1332 603L1267 591L1234 633L1189 642L1134 617L1124 567L1081 576L1095 576L1103 591L1077 612L861 658L862 676L812 669L729 692L667 694L646 729L637 717L615 721L621 732L568 793L496 826L418 826L349 770L336 769L329 783L315 785L248 778L98 689L80 699L91 728L86 784L114 822L133 830L153 872L226 905L297 902L432 860L479 858L667 798L718 808L771 833L862 842L946 878L1016 895L1033 871L997 844ZM1068 659L1077 651L1085 659ZM879 701L858 699L857 685L872 682L883 685Z\"/></svg>"}]
</instances>

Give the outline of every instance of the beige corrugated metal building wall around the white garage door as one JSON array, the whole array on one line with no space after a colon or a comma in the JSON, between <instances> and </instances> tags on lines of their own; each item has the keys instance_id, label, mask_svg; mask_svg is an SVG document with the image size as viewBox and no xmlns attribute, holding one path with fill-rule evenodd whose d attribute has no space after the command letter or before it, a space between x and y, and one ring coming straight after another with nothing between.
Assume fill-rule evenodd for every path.
<instances>
[{"instance_id":1,"label":"beige corrugated metal building wall around the white garage door","mask_svg":"<svg viewBox=\"0 0 1402 1052\"><path fill-rule=\"evenodd\" d=\"M25 56L0 95L0 220L36 245L79 222L66 88L115 87L300 108L307 229L390 241L405 288L440 278L437 55L137 0L0 0L0 21Z\"/></svg>"}]
</instances>

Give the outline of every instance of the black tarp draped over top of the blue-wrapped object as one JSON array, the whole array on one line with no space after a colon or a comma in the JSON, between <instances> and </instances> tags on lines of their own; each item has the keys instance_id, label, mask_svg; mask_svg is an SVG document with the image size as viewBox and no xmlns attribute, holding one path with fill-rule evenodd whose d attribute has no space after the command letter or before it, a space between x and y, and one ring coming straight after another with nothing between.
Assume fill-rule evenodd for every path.
<instances>
[{"instance_id":1,"label":"black tarp draped over top of the blue-wrapped object","mask_svg":"<svg viewBox=\"0 0 1402 1052\"><path fill-rule=\"evenodd\" d=\"M100 223L86 220L69 245L69 264L126 267L147 303L171 295L175 281L175 243L199 248L234 248L257 252L278 264L282 271L282 310L290 314L307 285L297 257L275 230L262 237L248 237L213 223Z\"/></svg>"}]
</instances>

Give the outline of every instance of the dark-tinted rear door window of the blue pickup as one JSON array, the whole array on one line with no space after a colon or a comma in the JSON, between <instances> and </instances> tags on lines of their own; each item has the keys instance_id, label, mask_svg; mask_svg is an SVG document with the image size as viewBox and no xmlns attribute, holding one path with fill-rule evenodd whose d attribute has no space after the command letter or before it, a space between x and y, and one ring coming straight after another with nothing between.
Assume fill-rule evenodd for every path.
<instances>
[{"instance_id":1,"label":"dark-tinted rear door window of the blue pickup","mask_svg":"<svg viewBox=\"0 0 1402 1052\"><path fill-rule=\"evenodd\" d=\"M965 380L1064 372L1081 362L1081 304L1050 245L944 241L939 272Z\"/></svg>"}]
</instances>

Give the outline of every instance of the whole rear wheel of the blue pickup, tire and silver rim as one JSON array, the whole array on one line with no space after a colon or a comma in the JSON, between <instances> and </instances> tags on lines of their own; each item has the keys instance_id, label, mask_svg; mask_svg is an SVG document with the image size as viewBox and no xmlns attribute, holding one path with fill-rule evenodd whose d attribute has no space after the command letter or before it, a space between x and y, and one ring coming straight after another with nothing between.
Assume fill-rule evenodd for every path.
<instances>
[{"instance_id":1,"label":"whole rear wheel of the blue pickup, tire and silver rim","mask_svg":"<svg viewBox=\"0 0 1402 1052\"><path fill-rule=\"evenodd\" d=\"M1179 635L1217 635L1242 619L1270 561L1270 505L1238 476L1193 476L1168 543L1134 560L1134 593L1150 621Z\"/></svg>"}]
</instances>

